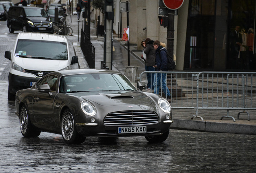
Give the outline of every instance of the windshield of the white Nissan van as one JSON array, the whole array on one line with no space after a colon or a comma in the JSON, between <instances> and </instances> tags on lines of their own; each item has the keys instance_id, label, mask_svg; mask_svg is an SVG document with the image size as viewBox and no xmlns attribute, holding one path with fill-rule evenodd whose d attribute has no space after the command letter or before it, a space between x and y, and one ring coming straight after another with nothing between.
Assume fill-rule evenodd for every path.
<instances>
[{"instance_id":1,"label":"windshield of the white Nissan van","mask_svg":"<svg viewBox=\"0 0 256 173\"><path fill-rule=\"evenodd\" d=\"M68 48L65 42L42 40L18 40L15 56L50 60L67 60Z\"/></svg>"}]
</instances>

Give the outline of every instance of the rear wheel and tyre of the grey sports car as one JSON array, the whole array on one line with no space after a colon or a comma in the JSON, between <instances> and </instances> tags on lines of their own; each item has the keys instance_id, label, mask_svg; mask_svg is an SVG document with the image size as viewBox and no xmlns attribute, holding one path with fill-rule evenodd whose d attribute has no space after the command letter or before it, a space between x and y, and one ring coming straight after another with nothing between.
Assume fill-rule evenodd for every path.
<instances>
[{"instance_id":1,"label":"rear wheel and tyre of the grey sports car","mask_svg":"<svg viewBox=\"0 0 256 173\"><path fill-rule=\"evenodd\" d=\"M38 137L41 131L35 129L30 122L30 117L27 113L27 108L23 106L20 112L20 128L21 134L24 137Z\"/></svg>"}]
</instances>

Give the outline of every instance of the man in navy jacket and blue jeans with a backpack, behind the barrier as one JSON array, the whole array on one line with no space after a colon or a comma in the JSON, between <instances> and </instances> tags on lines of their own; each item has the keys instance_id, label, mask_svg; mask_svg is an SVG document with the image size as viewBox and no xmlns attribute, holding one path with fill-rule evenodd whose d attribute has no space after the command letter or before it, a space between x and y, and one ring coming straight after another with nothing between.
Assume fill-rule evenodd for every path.
<instances>
[{"instance_id":1,"label":"man in navy jacket and blue jeans with a backpack, behind the barrier","mask_svg":"<svg viewBox=\"0 0 256 173\"><path fill-rule=\"evenodd\" d=\"M155 48L155 62L156 65L154 66L156 71L168 71L167 63L168 63L168 57L167 57L167 50L160 45L160 42L158 40L153 42L154 48ZM167 87L166 84L166 73L156 73L155 74L155 81L154 81L154 93L159 95L159 88L161 87L161 90L163 93L165 93L165 97L167 99L171 99L171 93Z\"/></svg>"}]
</instances>

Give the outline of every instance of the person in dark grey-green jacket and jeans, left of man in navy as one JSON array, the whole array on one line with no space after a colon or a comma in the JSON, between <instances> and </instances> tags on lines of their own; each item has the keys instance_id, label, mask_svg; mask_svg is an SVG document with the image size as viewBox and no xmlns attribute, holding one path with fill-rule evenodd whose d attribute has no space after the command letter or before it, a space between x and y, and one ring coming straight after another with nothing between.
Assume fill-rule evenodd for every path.
<instances>
[{"instance_id":1,"label":"person in dark grey-green jacket and jeans, left of man in navy","mask_svg":"<svg viewBox=\"0 0 256 173\"><path fill-rule=\"evenodd\" d=\"M145 40L146 42L146 48L143 50L143 52L146 54L147 59L146 59L146 66L145 66L145 70L146 71L155 71L155 68L153 67L155 65L155 49L153 46L153 40L151 40L150 38L146 38ZM151 91L154 89L154 76L155 73L147 73L147 91Z\"/></svg>"}]
</instances>

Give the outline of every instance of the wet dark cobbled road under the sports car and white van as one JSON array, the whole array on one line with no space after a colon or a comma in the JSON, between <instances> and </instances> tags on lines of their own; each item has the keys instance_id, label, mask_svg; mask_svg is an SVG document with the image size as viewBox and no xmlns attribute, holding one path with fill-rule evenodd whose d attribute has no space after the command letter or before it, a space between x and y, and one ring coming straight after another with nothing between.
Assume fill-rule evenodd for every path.
<instances>
[{"instance_id":1,"label":"wet dark cobbled road under the sports car and white van","mask_svg":"<svg viewBox=\"0 0 256 173\"><path fill-rule=\"evenodd\" d=\"M15 104L7 101L10 61L4 58L5 50L12 51L18 32L10 34L6 21L0 22L1 173L255 172L255 135L171 130L159 144L149 144L144 137L87 137L81 145L67 145L61 135L44 132L37 138L24 138L14 115Z\"/></svg>"}]
</instances>

